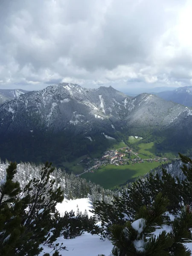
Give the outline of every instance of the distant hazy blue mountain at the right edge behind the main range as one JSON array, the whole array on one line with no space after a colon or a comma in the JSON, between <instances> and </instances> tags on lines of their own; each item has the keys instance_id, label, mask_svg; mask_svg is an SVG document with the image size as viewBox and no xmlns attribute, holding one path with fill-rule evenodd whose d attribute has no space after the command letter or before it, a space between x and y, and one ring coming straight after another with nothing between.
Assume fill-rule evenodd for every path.
<instances>
[{"instance_id":1,"label":"distant hazy blue mountain at the right edge behind the main range","mask_svg":"<svg viewBox=\"0 0 192 256\"><path fill-rule=\"evenodd\" d=\"M163 99L192 107L192 86L179 87L176 90L156 93L156 95Z\"/></svg>"}]
</instances>

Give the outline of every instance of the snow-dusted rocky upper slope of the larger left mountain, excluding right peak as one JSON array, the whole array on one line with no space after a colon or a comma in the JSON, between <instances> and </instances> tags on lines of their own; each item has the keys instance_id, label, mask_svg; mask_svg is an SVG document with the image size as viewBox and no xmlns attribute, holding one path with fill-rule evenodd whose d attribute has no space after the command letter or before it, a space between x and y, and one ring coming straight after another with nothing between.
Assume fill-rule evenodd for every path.
<instances>
[{"instance_id":1,"label":"snow-dusted rocky upper slope of the larger left mountain, excluding right peak","mask_svg":"<svg viewBox=\"0 0 192 256\"><path fill-rule=\"evenodd\" d=\"M88 132L93 125L106 125L113 130L116 125L124 123L130 99L112 87L87 90L77 84L49 86L23 94L1 106L0 136L41 129Z\"/></svg>"}]
</instances>

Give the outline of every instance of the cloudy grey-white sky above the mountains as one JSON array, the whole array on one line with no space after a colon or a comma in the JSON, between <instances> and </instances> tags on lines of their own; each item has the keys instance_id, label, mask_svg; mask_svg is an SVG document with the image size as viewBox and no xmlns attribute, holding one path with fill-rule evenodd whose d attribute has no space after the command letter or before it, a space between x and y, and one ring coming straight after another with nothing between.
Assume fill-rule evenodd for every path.
<instances>
[{"instance_id":1,"label":"cloudy grey-white sky above the mountains","mask_svg":"<svg viewBox=\"0 0 192 256\"><path fill-rule=\"evenodd\" d=\"M0 0L0 88L192 85L191 0Z\"/></svg>"}]
</instances>

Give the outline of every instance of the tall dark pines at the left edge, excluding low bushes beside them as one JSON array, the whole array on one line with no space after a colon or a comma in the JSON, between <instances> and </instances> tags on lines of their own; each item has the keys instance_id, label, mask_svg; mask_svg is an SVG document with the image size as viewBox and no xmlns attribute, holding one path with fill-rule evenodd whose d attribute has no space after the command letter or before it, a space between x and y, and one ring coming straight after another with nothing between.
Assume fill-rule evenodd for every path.
<instances>
[{"instance_id":1,"label":"tall dark pines at the left edge, excluding low bushes beside them","mask_svg":"<svg viewBox=\"0 0 192 256\"><path fill-rule=\"evenodd\" d=\"M35 256L58 220L55 206L63 200L63 192L60 187L53 190L51 163L46 163L41 177L31 180L23 191L13 181L16 169L17 164L10 163L0 183L0 255Z\"/></svg>"}]
</instances>

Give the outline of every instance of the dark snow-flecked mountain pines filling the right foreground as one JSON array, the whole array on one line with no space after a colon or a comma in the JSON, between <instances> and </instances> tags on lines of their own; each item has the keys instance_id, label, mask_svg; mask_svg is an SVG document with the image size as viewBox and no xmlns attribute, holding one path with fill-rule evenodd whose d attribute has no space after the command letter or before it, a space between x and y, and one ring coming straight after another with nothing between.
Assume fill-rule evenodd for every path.
<instances>
[{"instance_id":1,"label":"dark snow-flecked mountain pines filling the right foreground","mask_svg":"<svg viewBox=\"0 0 192 256\"><path fill-rule=\"evenodd\" d=\"M184 180L163 170L130 184L112 204L95 204L113 256L191 255L192 160L180 157Z\"/></svg>"}]
</instances>

